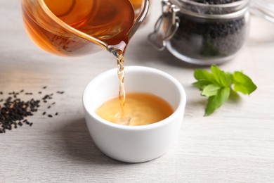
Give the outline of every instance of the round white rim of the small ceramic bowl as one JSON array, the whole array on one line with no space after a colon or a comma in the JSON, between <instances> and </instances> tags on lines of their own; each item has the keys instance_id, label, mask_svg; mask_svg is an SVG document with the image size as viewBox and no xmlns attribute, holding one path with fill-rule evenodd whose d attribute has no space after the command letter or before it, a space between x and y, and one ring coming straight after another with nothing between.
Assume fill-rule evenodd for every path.
<instances>
[{"instance_id":1,"label":"round white rim of the small ceramic bowl","mask_svg":"<svg viewBox=\"0 0 274 183\"><path fill-rule=\"evenodd\" d=\"M129 131L139 131L139 130L150 130L150 129L155 129L158 127L162 127L163 125L167 125L171 122L173 122L174 120L176 120L178 118L178 116L183 115L184 111L185 111L185 103L186 103L186 95L185 95L185 89L183 88L182 84L180 82L178 82L178 80L176 80L175 77L172 77L171 75L169 75L167 72L164 72L162 70L158 70L155 68L150 68L150 67L145 67L145 66L136 66L136 65L131 65L131 66L126 66L125 67L125 72L133 72L133 71L145 71L145 72L150 72L153 74L157 74L160 75L162 77L165 77L166 79L168 79L172 84L174 84L174 86L176 87L176 89L178 90L180 99L179 99L179 103L177 108L175 109L174 113L172 113L171 115L169 115L168 118L165 118L164 120L161 120L159 122L155 122L149 125L138 125L138 126L126 126L126 125L119 125L119 124L115 124L112 122L109 122L107 120L104 120L103 118L100 118L100 116L98 116L95 111L91 110L91 108L89 107L89 104L87 103L87 98L89 97L89 89L91 88L93 82L96 82L96 80L102 80L102 77L107 77L107 75L113 75L113 73L117 73L117 68L113 68L110 70L107 70L105 72L100 73L99 75L97 75L96 77L94 77L87 85L86 88L84 89L84 93L82 96L82 102L83 102L83 106L85 109L85 113L87 113L91 118L94 118L96 120L96 122L100 122L100 124L102 125L106 125L107 127L112 127L115 128L117 130L129 130ZM88 121L86 120L86 122L88 123Z\"/></svg>"}]
</instances>

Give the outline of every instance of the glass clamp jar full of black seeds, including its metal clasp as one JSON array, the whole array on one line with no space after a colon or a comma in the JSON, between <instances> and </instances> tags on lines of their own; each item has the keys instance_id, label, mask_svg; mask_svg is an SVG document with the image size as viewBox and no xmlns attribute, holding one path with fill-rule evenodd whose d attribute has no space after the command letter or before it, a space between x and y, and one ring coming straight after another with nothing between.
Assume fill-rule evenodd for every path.
<instances>
[{"instance_id":1,"label":"glass clamp jar full of black seeds, including its metal clasp","mask_svg":"<svg viewBox=\"0 0 274 183\"><path fill-rule=\"evenodd\" d=\"M162 15L149 41L188 63L211 65L234 58L247 39L249 0L207 1L162 0Z\"/></svg>"}]
</instances>

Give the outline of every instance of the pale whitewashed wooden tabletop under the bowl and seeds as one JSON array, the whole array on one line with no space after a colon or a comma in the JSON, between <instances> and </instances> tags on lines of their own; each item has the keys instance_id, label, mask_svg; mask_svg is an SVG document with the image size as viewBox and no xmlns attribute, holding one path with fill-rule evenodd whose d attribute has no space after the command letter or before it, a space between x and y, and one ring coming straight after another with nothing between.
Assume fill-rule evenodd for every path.
<instances>
[{"instance_id":1,"label":"pale whitewashed wooden tabletop under the bowl and seeds","mask_svg":"<svg viewBox=\"0 0 274 183\"><path fill-rule=\"evenodd\" d=\"M27 37L20 1L0 1L0 91L25 89L37 99L39 91L55 93L56 102L50 109L41 105L29 118L32 127L0 134L0 182L274 182L274 24L252 17L242 53L221 65L230 72L244 70L257 84L256 92L204 117L206 99L191 85L197 67L147 42L160 11L159 1L153 1L149 23L129 44L126 65L145 65L176 77L188 96L185 119L164 156L128 164L98 151L81 104L86 84L115 68L114 58L107 51L79 58L46 53ZM44 111L58 115L48 118L41 115Z\"/></svg>"}]
</instances>

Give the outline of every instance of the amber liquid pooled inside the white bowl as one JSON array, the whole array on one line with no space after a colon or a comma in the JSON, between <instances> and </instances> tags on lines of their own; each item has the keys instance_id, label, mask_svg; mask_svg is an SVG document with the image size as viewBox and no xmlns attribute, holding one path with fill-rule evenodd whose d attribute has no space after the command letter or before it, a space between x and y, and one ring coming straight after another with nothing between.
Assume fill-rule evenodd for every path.
<instances>
[{"instance_id":1,"label":"amber liquid pooled inside the white bowl","mask_svg":"<svg viewBox=\"0 0 274 183\"><path fill-rule=\"evenodd\" d=\"M167 101L147 93L126 94L123 118L118 103L118 97L105 101L97 108L97 115L119 125L136 126L159 122L174 112Z\"/></svg>"}]
</instances>

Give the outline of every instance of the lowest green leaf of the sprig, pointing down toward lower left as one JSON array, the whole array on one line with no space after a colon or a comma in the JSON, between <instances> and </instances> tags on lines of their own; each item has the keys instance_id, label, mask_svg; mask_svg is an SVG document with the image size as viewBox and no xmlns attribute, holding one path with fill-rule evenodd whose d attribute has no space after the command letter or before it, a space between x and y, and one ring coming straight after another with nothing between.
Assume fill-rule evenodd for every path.
<instances>
[{"instance_id":1,"label":"lowest green leaf of the sprig, pointing down toward lower left","mask_svg":"<svg viewBox=\"0 0 274 183\"><path fill-rule=\"evenodd\" d=\"M211 115L217 108L220 108L223 103L228 101L230 95L230 87L219 89L215 96L210 96L207 101L207 108L204 115Z\"/></svg>"}]
</instances>

